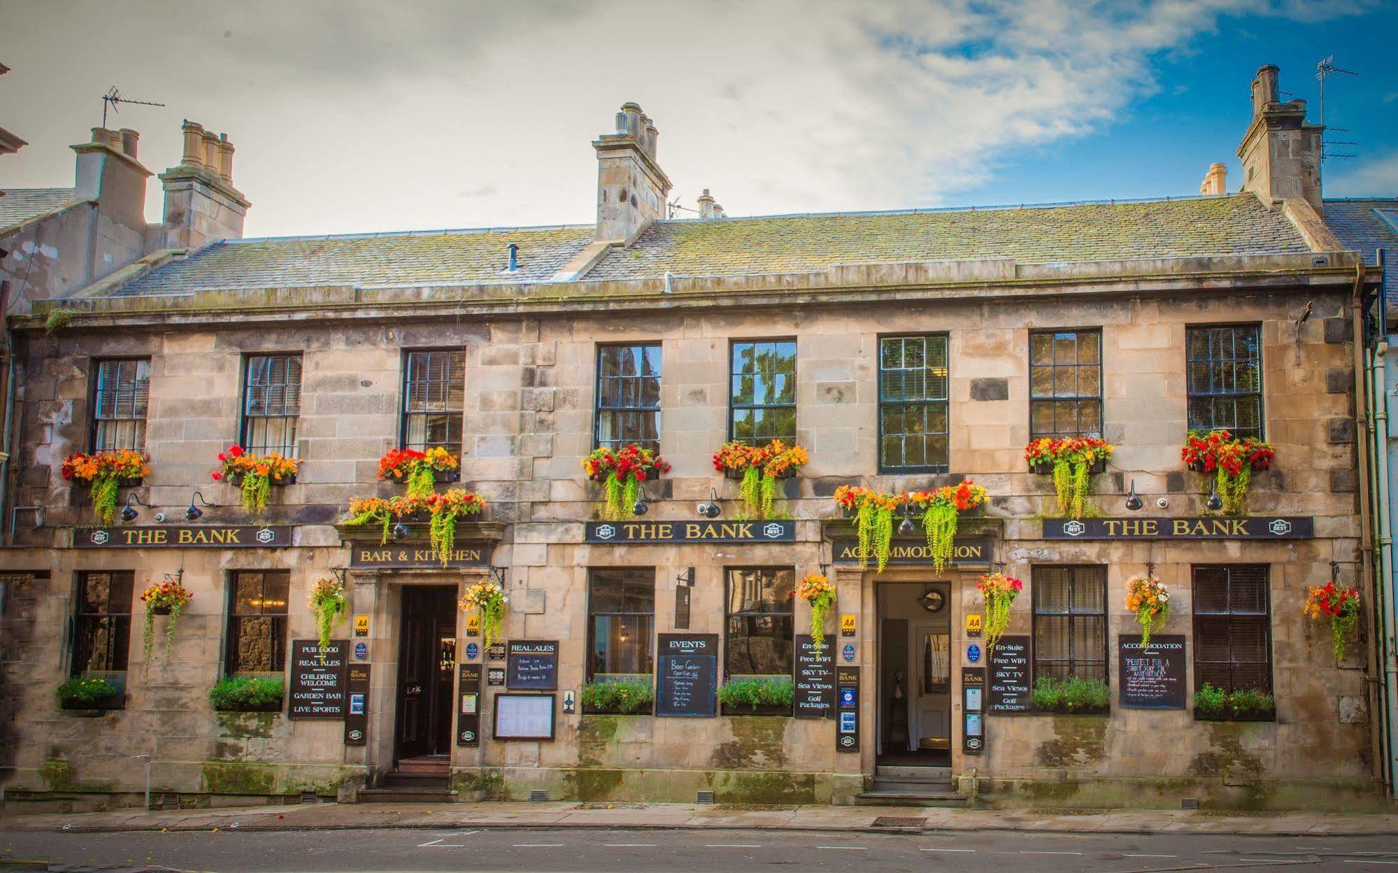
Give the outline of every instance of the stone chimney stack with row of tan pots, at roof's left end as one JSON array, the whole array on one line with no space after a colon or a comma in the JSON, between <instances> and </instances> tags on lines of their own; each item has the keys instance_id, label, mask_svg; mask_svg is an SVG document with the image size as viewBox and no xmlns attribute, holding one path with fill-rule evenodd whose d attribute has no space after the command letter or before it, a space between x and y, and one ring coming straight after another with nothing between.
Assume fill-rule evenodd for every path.
<instances>
[{"instance_id":1,"label":"stone chimney stack with row of tan pots, at roof's left end","mask_svg":"<svg viewBox=\"0 0 1398 873\"><path fill-rule=\"evenodd\" d=\"M197 249L239 239L250 203L233 187L233 144L228 134L185 120L185 154L164 173L165 248Z\"/></svg>"}]
</instances>

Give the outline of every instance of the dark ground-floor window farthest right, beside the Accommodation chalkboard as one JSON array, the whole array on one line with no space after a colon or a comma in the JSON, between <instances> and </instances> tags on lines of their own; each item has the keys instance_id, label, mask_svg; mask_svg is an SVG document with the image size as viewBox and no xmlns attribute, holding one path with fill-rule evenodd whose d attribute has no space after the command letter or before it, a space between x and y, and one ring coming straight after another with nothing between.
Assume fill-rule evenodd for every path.
<instances>
[{"instance_id":1,"label":"dark ground-floor window farthest right, beside the Accommodation chalkboard","mask_svg":"<svg viewBox=\"0 0 1398 873\"><path fill-rule=\"evenodd\" d=\"M1272 691L1268 568L1194 568L1194 687Z\"/></svg>"}]
</instances>

